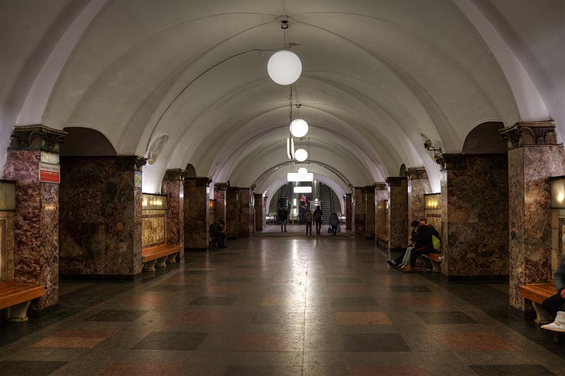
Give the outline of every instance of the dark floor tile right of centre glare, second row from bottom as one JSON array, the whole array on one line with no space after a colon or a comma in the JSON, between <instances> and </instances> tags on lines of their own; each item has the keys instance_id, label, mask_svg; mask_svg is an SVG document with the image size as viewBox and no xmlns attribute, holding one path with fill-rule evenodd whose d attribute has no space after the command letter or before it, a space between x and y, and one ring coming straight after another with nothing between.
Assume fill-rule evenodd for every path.
<instances>
[{"instance_id":1,"label":"dark floor tile right of centre glare, second row from bottom","mask_svg":"<svg viewBox=\"0 0 565 376\"><path fill-rule=\"evenodd\" d=\"M343 348L348 352L410 351L400 334L342 334Z\"/></svg>"}]
</instances>

